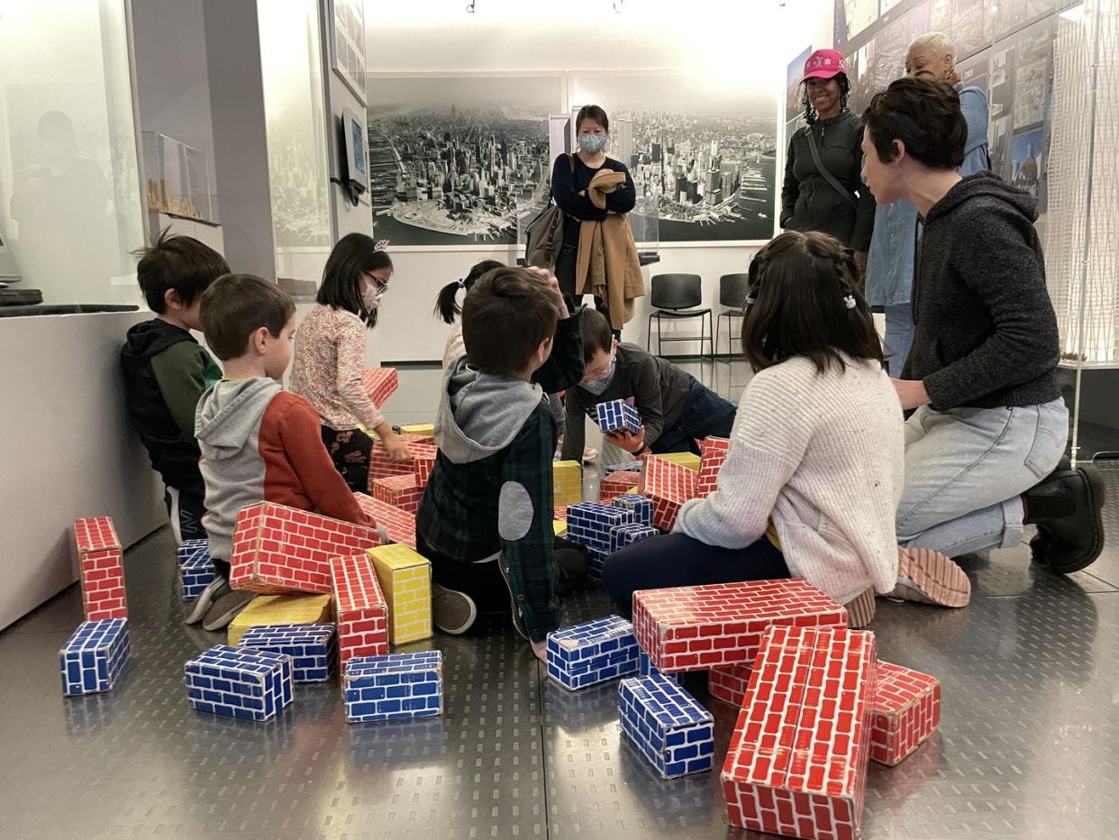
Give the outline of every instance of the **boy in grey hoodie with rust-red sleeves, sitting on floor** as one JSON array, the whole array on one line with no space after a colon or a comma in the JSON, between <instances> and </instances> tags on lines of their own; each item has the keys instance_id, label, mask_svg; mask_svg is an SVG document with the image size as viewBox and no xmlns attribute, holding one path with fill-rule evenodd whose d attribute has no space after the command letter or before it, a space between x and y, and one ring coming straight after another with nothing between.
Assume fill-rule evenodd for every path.
<instances>
[{"instance_id":1,"label":"boy in grey hoodie with rust-red sleeves, sitting on floor","mask_svg":"<svg viewBox=\"0 0 1119 840\"><path fill-rule=\"evenodd\" d=\"M373 523L331 464L314 408L280 385L295 332L291 297L258 277L226 274L203 296L201 321L225 367L225 377L198 403L195 420L209 510L203 524L217 575L198 597L188 624L201 619L213 631L225 627L253 598L226 582L242 507L265 500Z\"/></svg>"}]
</instances>

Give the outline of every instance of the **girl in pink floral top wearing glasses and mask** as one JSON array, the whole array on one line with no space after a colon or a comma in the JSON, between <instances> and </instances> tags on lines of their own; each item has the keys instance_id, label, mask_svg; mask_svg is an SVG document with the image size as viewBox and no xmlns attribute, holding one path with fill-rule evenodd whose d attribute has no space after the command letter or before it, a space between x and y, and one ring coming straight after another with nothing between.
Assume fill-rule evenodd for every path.
<instances>
[{"instance_id":1,"label":"girl in pink floral top wearing glasses and mask","mask_svg":"<svg viewBox=\"0 0 1119 840\"><path fill-rule=\"evenodd\" d=\"M295 337L291 390L319 412L322 442L355 492L369 488L373 440L358 426L375 430L389 460L408 457L407 447L380 416L361 384L365 330L377 324L380 298L388 289L393 261L364 233L342 236L330 252L314 307Z\"/></svg>"}]
</instances>

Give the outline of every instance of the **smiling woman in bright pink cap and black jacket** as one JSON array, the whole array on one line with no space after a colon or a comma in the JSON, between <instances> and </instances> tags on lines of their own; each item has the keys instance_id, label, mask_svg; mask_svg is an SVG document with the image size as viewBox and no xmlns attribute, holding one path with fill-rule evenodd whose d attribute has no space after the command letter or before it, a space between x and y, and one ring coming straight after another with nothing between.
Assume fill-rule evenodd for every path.
<instances>
[{"instance_id":1,"label":"smiling woman in bright pink cap and black jacket","mask_svg":"<svg viewBox=\"0 0 1119 840\"><path fill-rule=\"evenodd\" d=\"M859 271L874 230L874 198L858 170L863 127L847 110L847 64L835 49L805 62L806 127L789 139L781 188L781 227L829 233L855 252Z\"/></svg>"}]
</instances>

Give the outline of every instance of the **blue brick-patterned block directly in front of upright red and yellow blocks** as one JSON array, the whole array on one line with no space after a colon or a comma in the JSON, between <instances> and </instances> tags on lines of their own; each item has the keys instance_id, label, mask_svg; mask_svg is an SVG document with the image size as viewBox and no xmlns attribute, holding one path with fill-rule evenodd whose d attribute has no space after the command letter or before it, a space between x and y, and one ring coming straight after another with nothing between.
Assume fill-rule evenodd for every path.
<instances>
[{"instance_id":1,"label":"blue brick-patterned block directly in front of upright red and yellow blocks","mask_svg":"<svg viewBox=\"0 0 1119 840\"><path fill-rule=\"evenodd\" d=\"M402 720L443 711L440 651L355 656L346 663L346 719L351 724Z\"/></svg>"}]
</instances>

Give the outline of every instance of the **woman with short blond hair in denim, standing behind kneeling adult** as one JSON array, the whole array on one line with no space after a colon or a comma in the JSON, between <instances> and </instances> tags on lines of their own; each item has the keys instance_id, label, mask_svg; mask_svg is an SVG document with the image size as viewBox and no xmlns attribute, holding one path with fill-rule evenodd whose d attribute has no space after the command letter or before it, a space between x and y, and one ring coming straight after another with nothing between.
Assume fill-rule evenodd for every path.
<instances>
[{"instance_id":1,"label":"woman with short blond hair in denim, standing behind kneeling adult","mask_svg":"<svg viewBox=\"0 0 1119 840\"><path fill-rule=\"evenodd\" d=\"M914 40L905 56L905 75L948 82L960 94L960 111L968 124L967 144L960 175L990 168L987 150L987 94L965 87L956 72L956 48L940 32L927 32ZM890 375L902 375L913 345L913 254L919 224L916 207L904 198L880 204L874 214L874 236L866 261L866 301L886 312L886 362Z\"/></svg>"}]
</instances>

